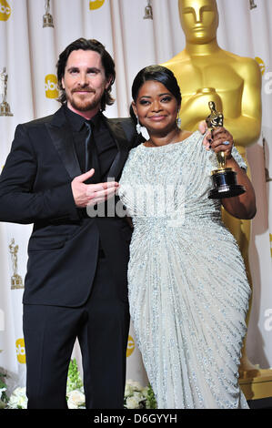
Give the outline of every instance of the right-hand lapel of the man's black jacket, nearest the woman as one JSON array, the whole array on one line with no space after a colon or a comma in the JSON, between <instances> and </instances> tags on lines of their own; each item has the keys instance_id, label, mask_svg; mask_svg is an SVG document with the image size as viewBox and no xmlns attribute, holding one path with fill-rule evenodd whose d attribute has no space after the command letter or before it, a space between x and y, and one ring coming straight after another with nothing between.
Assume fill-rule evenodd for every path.
<instances>
[{"instance_id":1,"label":"right-hand lapel of the man's black jacket, nearest the woman","mask_svg":"<svg viewBox=\"0 0 272 428\"><path fill-rule=\"evenodd\" d=\"M105 119L106 119L106 126L109 128L109 131L112 137L115 139L116 146L118 148L116 158L114 159L108 171L107 178L117 179L119 178L120 173L122 172L122 169L125 165L130 146L128 144L126 134L120 122L114 122L110 119L107 119L106 117Z\"/></svg>"}]
</instances>

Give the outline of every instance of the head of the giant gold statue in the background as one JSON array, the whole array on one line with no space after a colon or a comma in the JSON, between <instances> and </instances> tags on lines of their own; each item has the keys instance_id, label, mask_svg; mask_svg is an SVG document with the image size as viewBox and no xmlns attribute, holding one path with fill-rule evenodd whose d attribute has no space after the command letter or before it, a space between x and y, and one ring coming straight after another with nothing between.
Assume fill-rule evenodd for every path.
<instances>
[{"instance_id":1,"label":"head of the giant gold statue in the background","mask_svg":"<svg viewBox=\"0 0 272 428\"><path fill-rule=\"evenodd\" d=\"M217 38L216 0L178 0L178 9L186 42L201 45Z\"/></svg>"}]
</instances>

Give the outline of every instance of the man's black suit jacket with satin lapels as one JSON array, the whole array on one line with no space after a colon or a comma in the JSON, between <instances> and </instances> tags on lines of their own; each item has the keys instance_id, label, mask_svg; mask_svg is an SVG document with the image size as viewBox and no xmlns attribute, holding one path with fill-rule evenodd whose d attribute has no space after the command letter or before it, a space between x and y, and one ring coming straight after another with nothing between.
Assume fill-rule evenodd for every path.
<instances>
[{"instance_id":1,"label":"man's black suit jacket with satin lapels","mask_svg":"<svg viewBox=\"0 0 272 428\"><path fill-rule=\"evenodd\" d=\"M130 118L105 120L118 148L108 177L118 180L129 150L136 147L138 139ZM71 181L79 175L64 107L53 116L16 127L0 178L0 220L34 223L24 303L82 305L96 272L99 240L119 296L127 301L131 229L125 218L91 219L76 209Z\"/></svg>"}]
</instances>

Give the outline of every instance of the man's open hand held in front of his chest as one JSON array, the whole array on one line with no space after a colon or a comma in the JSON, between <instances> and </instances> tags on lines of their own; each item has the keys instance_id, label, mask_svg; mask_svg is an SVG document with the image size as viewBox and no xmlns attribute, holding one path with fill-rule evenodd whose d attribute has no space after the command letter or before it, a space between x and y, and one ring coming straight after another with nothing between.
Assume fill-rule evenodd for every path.
<instances>
[{"instance_id":1,"label":"man's open hand held in front of his chest","mask_svg":"<svg viewBox=\"0 0 272 428\"><path fill-rule=\"evenodd\" d=\"M86 208L88 205L96 205L104 202L106 199L112 198L116 194L119 184L116 181L108 181L106 183L85 184L88 178L91 178L95 173L92 168L85 174L73 179L71 183L73 197L77 208Z\"/></svg>"}]
</instances>

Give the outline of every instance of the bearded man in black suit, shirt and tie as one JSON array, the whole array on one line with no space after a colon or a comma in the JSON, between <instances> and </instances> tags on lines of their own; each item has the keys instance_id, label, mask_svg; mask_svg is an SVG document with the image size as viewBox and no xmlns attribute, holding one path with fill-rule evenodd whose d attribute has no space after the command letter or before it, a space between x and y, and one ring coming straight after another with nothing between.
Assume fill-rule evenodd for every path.
<instances>
[{"instance_id":1,"label":"bearded man in black suit, shirt and tie","mask_svg":"<svg viewBox=\"0 0 272 428\"><path fill-rule=\"evenodd\" d=\"M86 408L117 409L126 381L131 229L124 216L94 213L116 201L116 180L138 140L130 118L102 114L116 76L104 46L76 40L59 56L57 75L62 107L16 127L0 178L0 220L34 223L23 298L28 408L67 407L78 338Z\"/></svg>"}]
</instances>

